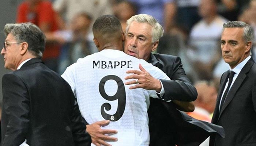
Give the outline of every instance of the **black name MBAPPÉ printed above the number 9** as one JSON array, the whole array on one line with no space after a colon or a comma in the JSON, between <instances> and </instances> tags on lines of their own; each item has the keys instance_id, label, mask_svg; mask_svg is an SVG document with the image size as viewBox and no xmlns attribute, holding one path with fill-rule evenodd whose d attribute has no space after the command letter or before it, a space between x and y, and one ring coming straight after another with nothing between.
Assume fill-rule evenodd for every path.
<instances>
[{"instance_id":1,"label":"black name MBAPP\u00c9 printed above the number 9","mask_svg":"<svg viewBox=\"0 0 256 146\"><path fill-rule=\"evenodd\" d=\"M132 61L93 61L93 68L116 69L132 68Z\"/></svg>"}]
</instances>

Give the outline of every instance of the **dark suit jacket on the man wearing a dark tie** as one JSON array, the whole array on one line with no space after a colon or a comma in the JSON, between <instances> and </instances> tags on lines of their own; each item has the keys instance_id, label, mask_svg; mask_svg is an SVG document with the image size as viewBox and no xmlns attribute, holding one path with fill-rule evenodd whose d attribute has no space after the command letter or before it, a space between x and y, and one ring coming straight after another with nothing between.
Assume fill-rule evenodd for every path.
<instances>
[{"instance_id":1,"label":"dark suit jacket on the man wearing a dark tie","mask_svg":"<svg viewBox=\"0 0 256 146\"><path fill-rule=\"evenodd\" d=\"M256 64L252 58L245 64L219 112L219 102L228 72L222 74L212 117L212 123L224 128L226 137L211 136L210 145L256 146Z\"/></svg>"}]
</instances>

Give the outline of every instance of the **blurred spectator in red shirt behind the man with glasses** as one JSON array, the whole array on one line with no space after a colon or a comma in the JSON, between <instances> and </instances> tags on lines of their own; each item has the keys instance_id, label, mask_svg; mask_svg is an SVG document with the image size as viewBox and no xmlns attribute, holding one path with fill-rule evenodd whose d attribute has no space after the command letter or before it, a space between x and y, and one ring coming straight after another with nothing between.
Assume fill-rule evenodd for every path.
<instances>
[{"instance_id":1,"label":"blurred spectator in red shirt behind the man with glasses","mask_svg":"<svg viewBox=\"0 0 256 146\"><path fill-rule=\"evenodd\" d=\"M50 69L57 72L60 44L53 37L53 32L58 30L56 13L52 3L48 0L24 0L17 10L17 23L31 22L37 25L46 35L47 42L42 61Z\"/></svg>"}]
</instances>

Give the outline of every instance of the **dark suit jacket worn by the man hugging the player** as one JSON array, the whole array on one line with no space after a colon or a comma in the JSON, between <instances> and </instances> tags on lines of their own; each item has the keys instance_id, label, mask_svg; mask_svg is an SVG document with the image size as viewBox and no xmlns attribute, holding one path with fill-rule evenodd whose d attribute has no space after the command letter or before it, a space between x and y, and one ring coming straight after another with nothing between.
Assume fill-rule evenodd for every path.
<instances>
[{"instance_id":1,"label":"dark suit jacket worn by the man hugging the player","mask_svg":"<svg viewBox=\"0 0 256 146\"><path fill-rule=\"evenodd\" d=\"M197 97L195 87L182 68L181 59L172 55L151 54L148 60L170 77L161 80L165 100L193 101ZM223 128L208 122L193 119L176 110L175 104L150 98L148 109L150 146L198 146L211 133L224 137Z\"/></svg>"}]
</instances>

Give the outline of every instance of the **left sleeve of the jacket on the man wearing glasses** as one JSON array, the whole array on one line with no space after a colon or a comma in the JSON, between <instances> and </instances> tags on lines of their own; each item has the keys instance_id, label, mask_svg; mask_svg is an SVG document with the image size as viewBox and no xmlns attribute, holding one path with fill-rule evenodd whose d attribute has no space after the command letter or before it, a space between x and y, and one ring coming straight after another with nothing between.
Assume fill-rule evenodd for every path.
<instances>
[{"instance_id":1,"label":"left sleeve of the jacket on the man wearing glasses","mask_svg":"<svg viewBox=\"0 0 256 146\"><path fill-rule=\"evenodd\" d=\"M18 146L29 131L29 93L24 82L13 74L2 78L2 146Z\"/></svg>"}]
</instances>

